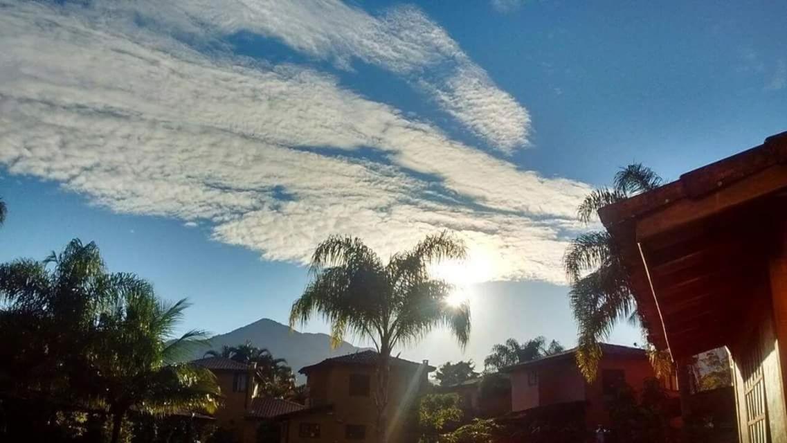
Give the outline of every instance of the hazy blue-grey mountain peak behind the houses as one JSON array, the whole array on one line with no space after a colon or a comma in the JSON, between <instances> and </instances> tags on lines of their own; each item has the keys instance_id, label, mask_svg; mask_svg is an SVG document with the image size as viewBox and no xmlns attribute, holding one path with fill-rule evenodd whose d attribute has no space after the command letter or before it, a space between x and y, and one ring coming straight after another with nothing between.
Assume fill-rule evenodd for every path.
<instances>
[{"instance_id":1,"label":"hazy blue-grey mountain peak behind the houses","mask_svg":"<svg viewBox=\"0 0 787 443\"><path fill-rule=\"evenodd\" d=\"M293 368L298 382L305 381L303 375L297 374L301 367L320 363L330 357L368 349L358 348L346 341L342 341L342 345L338 348L331 349L331 337L328 334L298 332L290 330L289 326L275 320L259 319L244 327L231 330L227 334L214 335L210 339L211 345L195 349L192 357L198 359L210 349L218 351L224 345L242 345L246 341L251 341L252 345L257 348L268 349L276 358L286 359L287 364Z\"/></svg>"}]
</instances>

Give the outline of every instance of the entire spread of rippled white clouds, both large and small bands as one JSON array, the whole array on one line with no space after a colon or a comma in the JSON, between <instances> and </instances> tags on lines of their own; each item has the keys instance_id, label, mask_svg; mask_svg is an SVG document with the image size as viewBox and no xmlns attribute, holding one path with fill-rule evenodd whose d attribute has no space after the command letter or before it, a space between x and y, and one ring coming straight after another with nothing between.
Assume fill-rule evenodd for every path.
<instances>
[{"instance_id":1,"label":"entire spread of rippled white clouds, both large and small bands","mask_svg":"<svg viewBox=\"0 0 787 443\"><path fill-rule=\"evenodd\" d=\"M248 29L348 68L357 57L405 76L501 149L526 142L525 109L423 13L177 3L133 3L161 24L140 28L122 3L107 14L0 0L0 163L118 212L205 221L268 260L305 263L332 233L388 254L449 228L488 269L479 279L563 282L586 184L522 171L312 68L172 38ZM381 155L336 153L360 148Z\"/></svg>"}]
</instances>

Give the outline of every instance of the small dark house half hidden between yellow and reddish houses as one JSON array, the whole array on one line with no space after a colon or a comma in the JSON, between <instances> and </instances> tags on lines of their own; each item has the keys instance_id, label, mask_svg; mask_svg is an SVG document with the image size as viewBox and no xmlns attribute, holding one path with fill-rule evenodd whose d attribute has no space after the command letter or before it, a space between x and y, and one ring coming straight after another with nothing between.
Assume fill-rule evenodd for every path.
<instances>
[{"instance_id":1,"label":"small dark house half hidden between yellow and reddish houses","mask_svg":"<svg viewBox=\"0 0 787 443\"><path fill-rule=\"evenodd\" d=\"M438 386L438 393L456 393L465 418L491 418L511 412L511 380L508 374L475 377L451 386Z\"/></svg>"}]
</instances>

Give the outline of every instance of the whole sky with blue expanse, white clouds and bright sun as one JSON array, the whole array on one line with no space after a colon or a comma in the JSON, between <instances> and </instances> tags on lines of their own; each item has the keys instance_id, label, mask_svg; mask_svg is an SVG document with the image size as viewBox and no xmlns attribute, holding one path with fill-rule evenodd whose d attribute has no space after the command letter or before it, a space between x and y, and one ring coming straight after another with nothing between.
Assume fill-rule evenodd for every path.
<instances>
[{"instance_id":1,"label":"whole sky with blue expanse, white clouds and bright sun","mask_svg":"<svg viewBox=\"0 0 787 443\"><path fill-rule=\"evenodd\" d=\"M194 303L284 322L327 234L383 255L448 228L475 329L575 341L574 208L787 129L783 2L0 0L0 259L94 240ZM323 323L306 330L324 331ZM611 341L641 341L623 325Z\"/></svg>"}]
</instances>

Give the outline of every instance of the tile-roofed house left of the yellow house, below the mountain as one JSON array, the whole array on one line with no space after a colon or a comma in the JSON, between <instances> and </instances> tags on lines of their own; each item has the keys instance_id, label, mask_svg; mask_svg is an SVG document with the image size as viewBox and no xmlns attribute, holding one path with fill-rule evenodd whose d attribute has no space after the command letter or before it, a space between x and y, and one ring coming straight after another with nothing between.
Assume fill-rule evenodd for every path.
<instances>
[{"instance_id":1,"label":"tile-roofed house left of the yellow house, below the mountain","mask_svg":"<svg viewBox=\"0 0 787 443\"><path fill-rule=\"evenodd\" d=\"M243 364L224 357L208 357L191 363L216 375L222 395L220 408L215 414L216 427L231 432L242 443L257 441L260 423L276 423L279 415L305 408L292 401L262 397L260 378L254 364Z\"/></svg>"}]
</instances>

